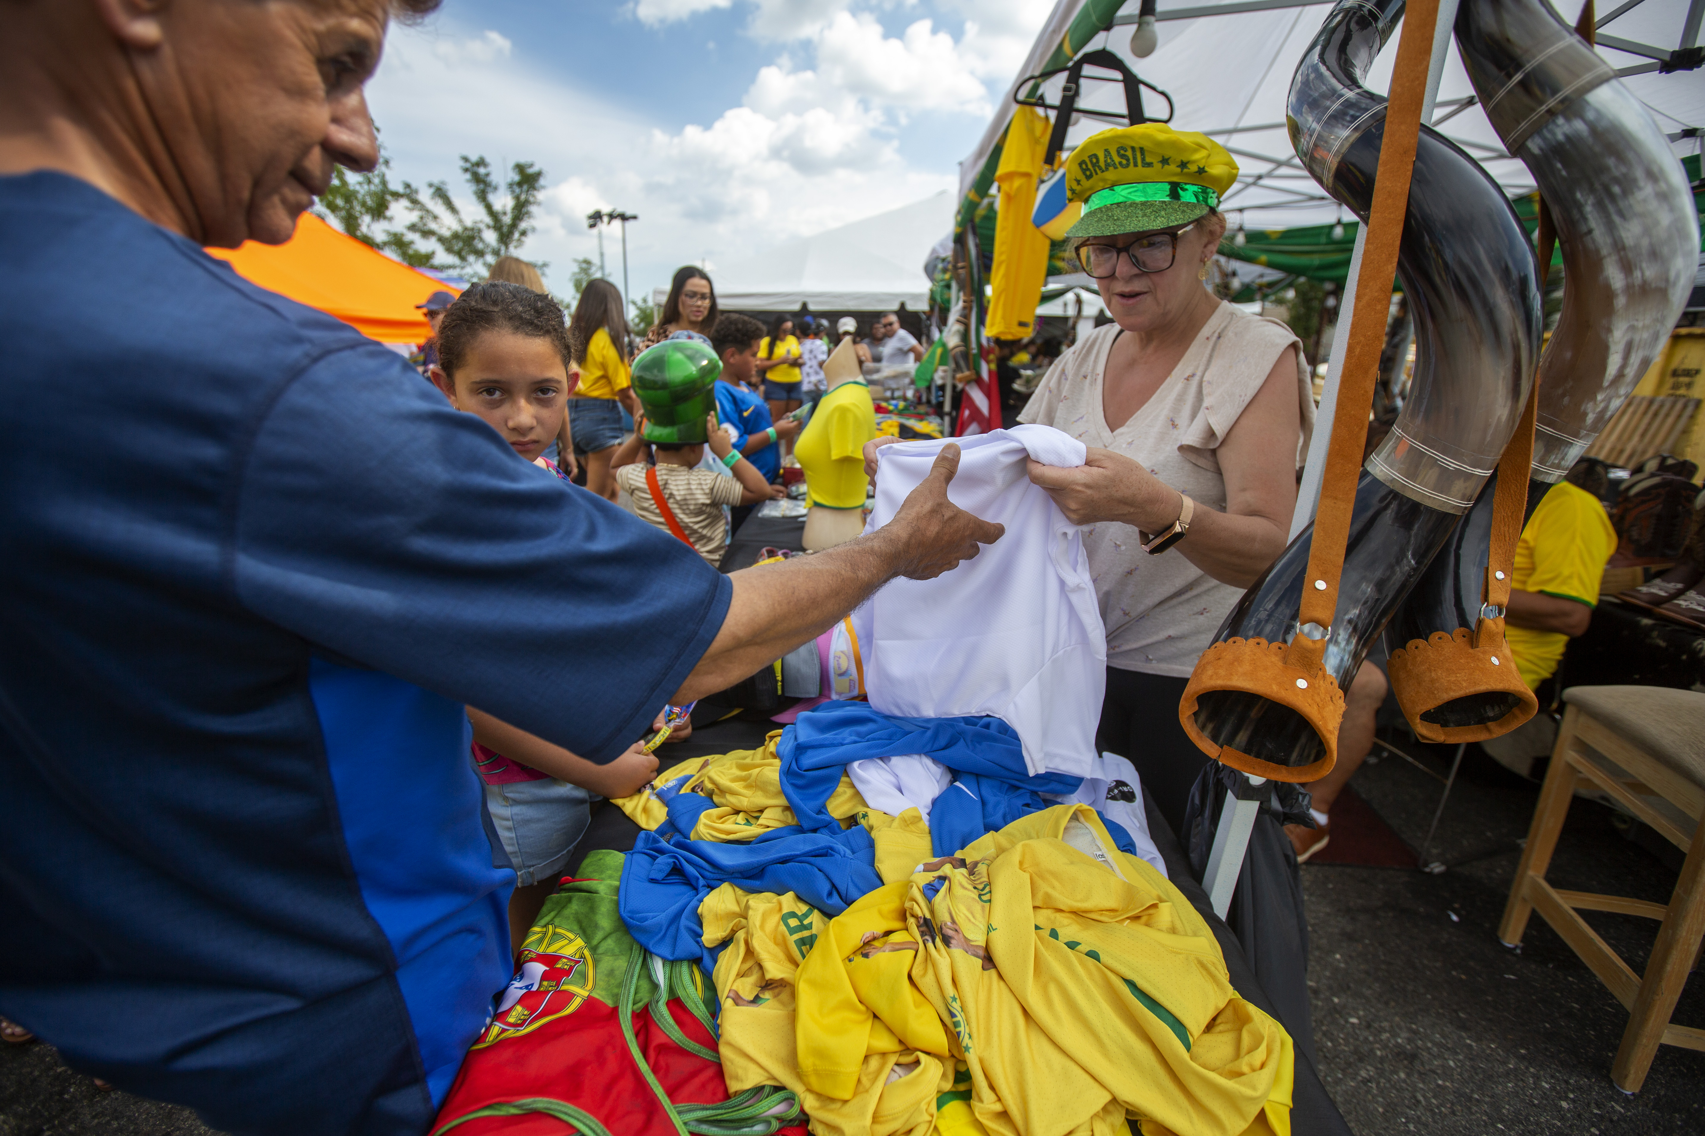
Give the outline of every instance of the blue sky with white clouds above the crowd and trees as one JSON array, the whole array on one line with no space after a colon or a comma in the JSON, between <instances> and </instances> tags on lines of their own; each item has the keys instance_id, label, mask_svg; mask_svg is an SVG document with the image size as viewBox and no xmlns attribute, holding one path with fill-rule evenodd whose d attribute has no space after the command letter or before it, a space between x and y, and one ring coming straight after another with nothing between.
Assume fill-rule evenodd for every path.
<instances>
[{"instance_id":1,"label":"blue sky with white clouds above the crowd and trees","mask_svg":"<svg viewBox=\"0 0 1705 1136\"><path fill-rule=\"evenodd\" d=\"M568 291L585 215L639 215L633 293L684 262L957 186L1052 0L447 0L396 27L368 85L394 170L459 186L457 155L546 170L539 232ZM621 279L616 230L605 237Z\"/></svg>"}]
</instances>

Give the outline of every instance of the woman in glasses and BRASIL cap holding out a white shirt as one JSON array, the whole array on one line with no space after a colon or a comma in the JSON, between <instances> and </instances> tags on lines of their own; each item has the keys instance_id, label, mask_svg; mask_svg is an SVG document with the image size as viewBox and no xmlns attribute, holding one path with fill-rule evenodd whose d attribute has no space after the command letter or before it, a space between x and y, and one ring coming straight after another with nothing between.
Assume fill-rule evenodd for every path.
<instances>
[{"instance_id":1,"label":"woman in glasses and BRASIL cap holding out a white shirt","mask_svg":"<svg viewBox=\"0 0 1705 1136\"><path fill-rule=\"evenodd\" d=\"M1049 370L1023 422L1089 446L1032 463L1083 543L1107 627L1100 744L1142 773L1176 831L1207 758L1178 700L1243 589L1284 550L1315 422L1303 344L1205 286L1238 165L1205 135L1108 129L1066 160L1067 230L1113 324Z\"/></svg>"}]
</instances>

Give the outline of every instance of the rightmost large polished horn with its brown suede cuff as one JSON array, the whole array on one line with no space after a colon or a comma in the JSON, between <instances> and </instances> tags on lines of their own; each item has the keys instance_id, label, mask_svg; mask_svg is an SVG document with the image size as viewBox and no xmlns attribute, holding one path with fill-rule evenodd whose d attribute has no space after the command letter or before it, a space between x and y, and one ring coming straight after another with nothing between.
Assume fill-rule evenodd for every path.
<instances>
[{"instance_id":1,"label":"rightmost large polished horn with its brown suede cuff","mask_svg":"<svg viewBox=\"0 0 1705 1136\"><path fill-rule=\"evenodd\" d=\"M1591 22L1582 27L1591 34ZM1523 482L1509 492L1538 504L1662 351L1693 286L1698 218L1681 164L1645 107L1550 7L1465 0L1456 41L1494 129L1533 174L1563 250L1563 310L1540 361L1531 489L1526 468L1499 470L1500 480ZM1541 249L1546 261L1550 252ZM1488 564L1492 504L1488 491L1391 622L1393 640L1407 644L1393 651L1391 685L1427 741L1483 741L1526 719L1514 712L1528 691L1507 688L1507 666L1422 664L1437 649L1463 657L1470 632L1446 642L1439 628L1502 623L1500 596L1488 588L1512 565L1497 555Z\"/></svg>"}]
</instances>

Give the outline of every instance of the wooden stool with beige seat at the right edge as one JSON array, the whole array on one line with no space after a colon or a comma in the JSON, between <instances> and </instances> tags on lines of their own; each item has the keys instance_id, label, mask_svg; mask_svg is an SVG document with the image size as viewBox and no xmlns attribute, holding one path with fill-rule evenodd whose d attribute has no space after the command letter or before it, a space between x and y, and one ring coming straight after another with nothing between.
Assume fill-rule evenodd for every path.
<instances>
[{"instance_id":1,"label":"wooden stool with beige seat at the right edge","mask_svg":"<svg viewBox=\"0 0 1705 1136\"><path fill-rule=\"evenodd\" d=\"M1659 1042L1705 1049L1705 1029L1671 1025L1676 998L1705 937L1705 693L1662 686L1572 686L1552 751L1528 846L1516 869L1499 938L1521 944L1538 911L1628 1008L1611 1080L1639 1092ZM1587 782L1686 852L1669 904L1558 891L1545 881L1575 783ZM1618 911L1659 920L1657 942L1639 976L1577 911Z\"/></svg>"}]
</instances>

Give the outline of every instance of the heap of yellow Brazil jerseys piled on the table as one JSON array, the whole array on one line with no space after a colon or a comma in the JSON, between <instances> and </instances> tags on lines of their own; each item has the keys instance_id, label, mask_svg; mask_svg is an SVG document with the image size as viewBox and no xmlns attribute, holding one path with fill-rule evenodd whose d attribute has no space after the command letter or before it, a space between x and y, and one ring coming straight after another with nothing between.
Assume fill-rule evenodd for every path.
<instances>
[{"instance_id":1,"label":"heap of yellow Brazil jerseys piled on the table","mask_svg":"<svg viewBox=\"0 0 1705 1136\"><path fill-rule=\"evenodd\" d=\"M718 806L696 840L791 824L762 749L672 770ZM644 828L650 789L617 800ZM1117 850L1086 806L1057 806L931 858L916 809L864 824L885 886L839 916L733 884L699 906L731 1093L783 1085L817 1136L1289 1136L1292 1049L1231 988L1190 901Z\"/></svg>"}]
</instances>

